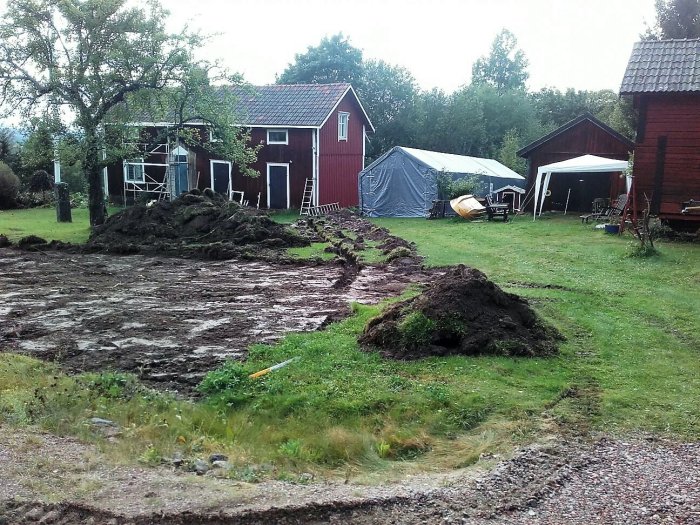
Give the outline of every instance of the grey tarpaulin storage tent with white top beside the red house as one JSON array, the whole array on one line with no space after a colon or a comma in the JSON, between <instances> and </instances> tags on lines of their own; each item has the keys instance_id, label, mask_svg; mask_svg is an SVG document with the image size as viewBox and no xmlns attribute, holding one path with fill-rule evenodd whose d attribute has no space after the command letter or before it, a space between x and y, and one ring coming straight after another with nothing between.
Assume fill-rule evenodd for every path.
<instances>
[{"instance_id":1,"label":"grey tarpaulin storage tent with white top beside the red house","mask_svg":"<svg viewBox=\"0 0 700 525\"><path fill-rule=\"evenodd\" d=\"M480 196L525 184L524 177L492 159L396 146L360 172L360 212L367 217L427 217L438 199L441 173L453 179L476 177Z\"/></svg>"}]
</instances>

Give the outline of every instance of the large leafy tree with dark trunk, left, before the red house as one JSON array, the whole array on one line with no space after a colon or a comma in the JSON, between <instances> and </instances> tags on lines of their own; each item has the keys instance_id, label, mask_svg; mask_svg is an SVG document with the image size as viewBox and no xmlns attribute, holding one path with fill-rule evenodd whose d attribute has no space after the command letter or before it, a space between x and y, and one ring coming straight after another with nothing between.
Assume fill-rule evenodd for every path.
<instances>
[{"instance_id":1,"label":"large leafy tree with dark trunk, left, before the red house","mask_svg":"<svg viewBox=\"0 0 700 525\"><path fill-rule=\"evenodd\" d=\"M80 131L90 223L105 219L103 129L125 101L181 86L199 35L165 30L156 0L9 0L0 23L0 103L25 116L59 106ZM123 114L123 113L122 113Z\"/></svg>"}]
</instances>

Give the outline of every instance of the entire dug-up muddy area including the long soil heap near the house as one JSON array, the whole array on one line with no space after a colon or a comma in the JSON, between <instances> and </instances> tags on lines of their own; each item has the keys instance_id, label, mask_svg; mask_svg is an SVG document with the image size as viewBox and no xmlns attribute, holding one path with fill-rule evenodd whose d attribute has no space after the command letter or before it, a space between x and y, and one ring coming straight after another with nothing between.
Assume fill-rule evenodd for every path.
<instances>
[{"instance_id":1,"label":"entire dug-up muddy area including the long soil heap near the house","mask_svg":"<svg viewBox=\"0 0 700 525\"><path fill-rule=\"evenodd\" d=\"M346 211L290 229L230 206L186 194L111 217L84 248L38 241L0 248L0 351L70 372L133 372L191 393L206 372L244 358L252 344L321 329L349 315L353 301L376 304L441 273L422 269L403 239ZM387 254L403 247L401 257L359 263L365 237ZM286 246L310 241L329 242L335 260L286 255ZM183 246L188 258L151 256ZM245 258L233 258L240 249ZM95 250L106 253L85 253Z\"/></svg>"}]
</instances>

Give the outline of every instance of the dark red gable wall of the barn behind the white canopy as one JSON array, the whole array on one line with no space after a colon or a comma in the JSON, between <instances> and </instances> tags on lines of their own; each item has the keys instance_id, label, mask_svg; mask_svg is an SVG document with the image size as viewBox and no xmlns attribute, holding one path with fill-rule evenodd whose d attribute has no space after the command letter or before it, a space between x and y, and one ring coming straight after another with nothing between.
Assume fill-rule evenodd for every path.
<instances>
[{"instance_id":1,"label":"dark red gable wall of the barn behind the white canopy","mask_svg":"<svg viewBox=\"0 0 700 525\"><path fill-rule=\"evenodd\" d=\"M545 142L528 154L527 158L529 159L529 163L526 195L531 194L532 187L537 177L537 169L540 166L587 154L611 159L627 160L629 158L630 149L628 144L621 142L617 137L611 135L599 126L596 126L590 120L584 120L573 128L552 137L551 140ZM597 178L600 177L601 176L598 176ZM550 180L550 190L553 196L557 195L560 197L558 201L564 200L567 193L568 188L562 185L571 186L569 178L566 178L567 180L564 181L565 178L566 177L559 177L559 179L557 179L557 176L553 175ZM585 184L586 177L580 177L577 174L576 178L582 178ZM614 199L620 193L624 192L624 181L621 181L617 174L610 174L609 180L608 194L599 196ZM597 182L600 183L600 181ZM560 188L559 186L562 187ZM552 209L551 203L552 199L546 199L543 209ZM590 204L590 202L581 203L580 206L582 207L578 211L589 211ZM528 207L532 209L532 202L530 202Z\"/></svg>"}]
</instances>

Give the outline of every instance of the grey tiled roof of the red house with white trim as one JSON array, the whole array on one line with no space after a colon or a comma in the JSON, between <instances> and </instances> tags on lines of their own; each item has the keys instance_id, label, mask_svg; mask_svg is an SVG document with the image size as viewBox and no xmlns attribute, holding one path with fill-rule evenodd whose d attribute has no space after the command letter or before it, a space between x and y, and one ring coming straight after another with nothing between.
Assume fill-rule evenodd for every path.
<instances>
[{"instance_id":1,"label":"grey tiled roof of the red house with white trim","mask_svg":"<svg viewBox=\"0 0 700 525\"><path fill-rule=\"evenodd\" d=\"M350 84L277 84L232 89L237 98L236 111L244 125L320 126Z\"/></svg>"}]
</instances>

